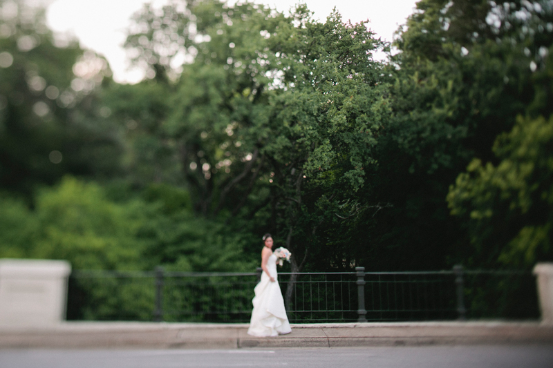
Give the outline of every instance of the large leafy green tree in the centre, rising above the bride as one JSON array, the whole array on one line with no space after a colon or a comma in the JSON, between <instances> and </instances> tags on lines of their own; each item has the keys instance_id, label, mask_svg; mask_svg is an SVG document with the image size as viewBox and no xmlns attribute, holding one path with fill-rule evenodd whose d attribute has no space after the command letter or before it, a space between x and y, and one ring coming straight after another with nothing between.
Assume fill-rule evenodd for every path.
<instances>
[{"instance_id":1,"label":"large leafy green tree in the centre, rising above the bride","mask_svg":"<svg viewBox=\"0 0 553 368\"><path fill-rule=\"evenodd\" d=\"M238 215L227 221L241 227L259 219L245 226L276 233L300 269L304 245L314 241L309 234L324 216L335 217L319 208L365 206L348 199L375 163L371 152L386 119L384 66L372 59L384 45L363 24L344 23L337 12L318 23L305 7L287 18L251 3L202 1L157 15L145 8L135 19L140 32L127 46L138 50L138 64L162 57L149 59L148 50L178 45L194 57L182 66L164 129L178 147L196 211ZM178 35L181 28L195 32ZM160 39L175 46L155 46ZM167 71L153 64L152 78Z\"/></svg>"}]
</instances>

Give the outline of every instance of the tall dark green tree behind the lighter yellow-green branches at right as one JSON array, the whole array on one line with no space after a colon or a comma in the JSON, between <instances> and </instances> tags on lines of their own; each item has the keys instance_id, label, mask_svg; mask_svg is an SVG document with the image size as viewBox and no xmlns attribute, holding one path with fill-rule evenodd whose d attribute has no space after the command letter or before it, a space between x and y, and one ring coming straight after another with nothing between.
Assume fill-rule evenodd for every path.
<instances>
[{"instance_id":1,"label":"tall dark green tree behind the lighter yellow-green branches at right","mask_svg":"<svg viewBox=\"0 0 553 368\"><path fill-rule=\"evenodd\" d=\"M372 188L391 207L371 217L364 242L373 251L364 262L435 269L471 259L476 266L465 222L449 215L444 199L473 157L498 163L491 147L517 115L550 115L551 9L544 1L417 7L397 34L392 117Z\"/></svg>"}]
</instances>

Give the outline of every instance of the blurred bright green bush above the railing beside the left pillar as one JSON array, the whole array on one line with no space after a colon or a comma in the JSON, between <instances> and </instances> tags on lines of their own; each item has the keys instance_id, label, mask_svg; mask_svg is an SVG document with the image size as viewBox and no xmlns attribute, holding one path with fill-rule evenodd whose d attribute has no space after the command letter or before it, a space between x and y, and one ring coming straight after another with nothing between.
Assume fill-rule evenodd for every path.
<instances>
[{"instance_id":1,"label":"blurred bright green bush above the railing beside the left pillar","mask_svg":"<svg viewBox=\"0 0 553 368\"><path fill-rule=\"evenodd\" d=\"M41 236L30 256L68 260L74 269L144 269L140 209L111 202L95 183L65 177L37 195Z\"/></svg>"}]
</instances>

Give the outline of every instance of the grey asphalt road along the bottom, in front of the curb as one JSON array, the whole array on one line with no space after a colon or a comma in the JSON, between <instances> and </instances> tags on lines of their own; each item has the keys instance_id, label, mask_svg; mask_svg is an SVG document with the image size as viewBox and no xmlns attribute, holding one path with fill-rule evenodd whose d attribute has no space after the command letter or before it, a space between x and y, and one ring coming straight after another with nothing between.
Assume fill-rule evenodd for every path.
<instances>
[{"instance_id":1,"label":"grey asphalt road along the bottom, in front of the curb","mask_svg":"<svg viewBox=\"0 0 553 368\"><path fill-rule=\"evenodd\" d=\"M552 345L235 350L0 350L1 368L553 368Z\"/></svg>"}]
</instances>

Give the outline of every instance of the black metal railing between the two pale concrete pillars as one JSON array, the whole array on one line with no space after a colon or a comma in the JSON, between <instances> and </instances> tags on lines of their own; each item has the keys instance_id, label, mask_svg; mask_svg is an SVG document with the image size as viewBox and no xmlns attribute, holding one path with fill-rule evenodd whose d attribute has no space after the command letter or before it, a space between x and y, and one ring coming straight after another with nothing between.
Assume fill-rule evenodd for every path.
<instances>
[{"instance_id":1,"label":"black metal railing between the two pale concrete pillars","mask_svg":"<svg viewBox=\"0 0 553 368\"><path fill-rule=\"evenodd\" d=\"M70 320L248 322L256 273L74 271ZM291 273L279 273L285 294ZM296 273L291 322L538 319L530 271Z\"/></svg>"}]
</instances>

